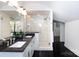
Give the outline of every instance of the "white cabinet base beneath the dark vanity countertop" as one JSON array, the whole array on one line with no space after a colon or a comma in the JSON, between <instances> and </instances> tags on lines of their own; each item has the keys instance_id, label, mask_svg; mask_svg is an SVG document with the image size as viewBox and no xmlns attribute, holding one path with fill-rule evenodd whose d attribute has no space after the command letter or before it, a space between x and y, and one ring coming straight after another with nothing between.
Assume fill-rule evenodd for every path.
<instances>
[{"instance_id":1,"label":"white cabinet base beneath the dark vanity countertop","mask_svg":"<svg viewBox=\"0 0 79 59\"><path fill-rule=\"evenodd\" d=\"M32 57L34 53L35 42L34 36L23 52L0 52L0 57Z\"/></svg>"}]
</instances>

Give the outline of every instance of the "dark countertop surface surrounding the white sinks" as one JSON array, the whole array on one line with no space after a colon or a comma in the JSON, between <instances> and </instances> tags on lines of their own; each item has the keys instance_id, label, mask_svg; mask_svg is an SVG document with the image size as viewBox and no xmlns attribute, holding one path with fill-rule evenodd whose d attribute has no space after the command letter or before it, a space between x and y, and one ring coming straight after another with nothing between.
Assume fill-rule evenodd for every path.
<instances>
[{"instance_id":1,"label":"dark countertop surface surrounding the white sinks","mask_svg":"<svg viewBox=\"0 0 79 59\"><path fill-rule=\"evenodd\" d=\"M34 37L34 35L32 36L32 38L33 37ZM28 44L31 42L32 38L23 38L22 41L26 41L26 43L21 48L6 47L6 48L0 50L0 52L23 52L24 49L28 46Z\"/></svg>"}]
</instances>

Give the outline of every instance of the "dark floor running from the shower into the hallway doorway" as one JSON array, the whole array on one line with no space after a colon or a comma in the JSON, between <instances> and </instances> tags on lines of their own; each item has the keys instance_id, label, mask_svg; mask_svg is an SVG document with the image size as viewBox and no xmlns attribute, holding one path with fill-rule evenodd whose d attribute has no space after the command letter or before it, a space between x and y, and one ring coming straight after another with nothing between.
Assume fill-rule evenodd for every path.
<instances>
[{"instance_id":1,"label":"dark floor running from the shower into the hallway doorway","mask_svg":"<svg viewBox=\"0 0 79 59\"><path fill-rule=\"evenodd\" d=\"M33 57L78 57L60 42L60 37L54 37L53 51L34 51Z\"/></svg>"}]
</instances>

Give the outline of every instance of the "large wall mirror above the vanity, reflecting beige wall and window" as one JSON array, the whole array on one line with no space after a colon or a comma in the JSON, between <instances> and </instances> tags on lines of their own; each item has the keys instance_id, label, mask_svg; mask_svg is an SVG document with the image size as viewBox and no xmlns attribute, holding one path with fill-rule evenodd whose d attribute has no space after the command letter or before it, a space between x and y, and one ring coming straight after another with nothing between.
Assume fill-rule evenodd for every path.
<instances>
[{"instance_id":1,"label":"large wall mirror above the vanity, reflecting beige wall and window","mask_svg":"<svg viewBox=\"0 0 79 59\"><path fill-rule=\"evenodd\" d=\"M17 11L0 11L0 36L2 38L13 36L13 33L23 32L24 16Z\"/></svg>"}]
</instances>

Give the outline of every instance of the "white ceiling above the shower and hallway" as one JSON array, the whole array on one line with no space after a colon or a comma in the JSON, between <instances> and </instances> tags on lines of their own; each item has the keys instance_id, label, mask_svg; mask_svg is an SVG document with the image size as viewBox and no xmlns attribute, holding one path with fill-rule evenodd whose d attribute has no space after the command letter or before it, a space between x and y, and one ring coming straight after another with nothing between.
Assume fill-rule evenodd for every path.
<instances>
[{"instance_id":1,"label":"white ceiling above the shower and hallway","mask_svg":"<svg viewBox=\"0 0 79 59\"><path fill-rule=\"evenodd\" d=\"M52 9L54 20L57 21L69 22L79 20L79 1L19 1L18 4L26 10ZM6 4L0 2L0 9L4 6Z\"/></svg>"}]
</instances>

